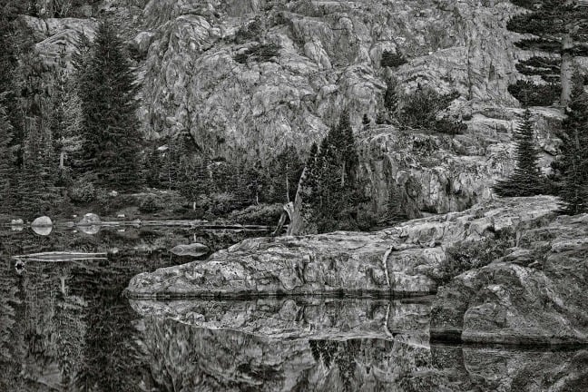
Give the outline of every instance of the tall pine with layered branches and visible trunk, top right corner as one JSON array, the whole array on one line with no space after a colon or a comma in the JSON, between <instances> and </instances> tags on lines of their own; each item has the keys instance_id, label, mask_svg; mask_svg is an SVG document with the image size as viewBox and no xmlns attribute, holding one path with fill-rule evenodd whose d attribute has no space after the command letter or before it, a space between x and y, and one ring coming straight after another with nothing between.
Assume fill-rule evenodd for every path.
<instances>
[{"instance_id":1,"label":"tall pine with layered branches and visible trunk, top right corner","mask_svg":"<svg viewBox=\"0 0 588 392\"><path fill-rule=\"evenodd\" d=\"M552 83L559 73L562 93L560 103L565 106L572 93L573 59L587 55L584 44L588 34L588 8L576 1L562 0L511 0L526 8L524 14L513 16L506 27L516 33L534 34L516 43L524 50L552 54L550 57L535 56L521 62L517 68L524 74L536 74Z\"/></svg>"}]
</instances>

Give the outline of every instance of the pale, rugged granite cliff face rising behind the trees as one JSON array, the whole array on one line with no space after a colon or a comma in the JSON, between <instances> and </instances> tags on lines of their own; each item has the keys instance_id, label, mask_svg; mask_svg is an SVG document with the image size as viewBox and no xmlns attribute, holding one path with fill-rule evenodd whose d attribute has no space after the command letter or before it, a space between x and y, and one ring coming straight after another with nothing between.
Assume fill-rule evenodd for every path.
<instances>
[{"instance_id":1,"label":"pale, rugged granite cliff face rising behind the trees","mask_svg":"<svg viewBox=\"0 0 588 392\"><path fill-rule=\"evenodd\" d=\"M97 18L112 18L137 60L146 137L188 131L212 156L264 161L287 145L304 154L348 108L374 208L381 212L397 184L418 217L485 200L495 178L512 170L510 108L518 104L506 88L520 52L505 23L516 11L506 0L104 0L76 10L83 18L22 22L50 67L62 46L69 60L77 32L92 37ZM243 60L260 44L278 45L277 53ZM408 63L382 67L384 51ZM363 115L373 123L382 109L391 75L399 93L417 85L459 92L449 112L469 131L451 139L385 125L363 130ZM547 130L561 116L534 112L547 168L556 153Z\"/></svg>"}]
</instances>

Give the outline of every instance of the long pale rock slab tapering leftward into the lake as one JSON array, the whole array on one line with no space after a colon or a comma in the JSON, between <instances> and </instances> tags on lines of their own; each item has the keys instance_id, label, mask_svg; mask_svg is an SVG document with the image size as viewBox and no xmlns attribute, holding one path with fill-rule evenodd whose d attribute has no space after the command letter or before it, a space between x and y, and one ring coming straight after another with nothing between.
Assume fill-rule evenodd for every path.
<instances>
[{"instance_id":1,"label":"long pale rock slab tapering leftward into the lake","mask_svg":"<svg viewBox=\"0 0 588 392\"><path fill-rule=\"evenodd\" d=\"M505 199L377 232L244 240L205 261L143 273L132 298L384 295L436 291L446 248L554 219L553 197Z\"/></svg>"}]
</instances>

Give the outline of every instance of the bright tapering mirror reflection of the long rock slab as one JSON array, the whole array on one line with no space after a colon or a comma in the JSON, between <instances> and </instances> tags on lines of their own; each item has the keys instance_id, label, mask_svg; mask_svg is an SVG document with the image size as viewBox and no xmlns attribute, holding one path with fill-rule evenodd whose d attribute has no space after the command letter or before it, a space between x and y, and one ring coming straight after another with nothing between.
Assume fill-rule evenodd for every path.
<instances>
[{"instance_id":1,"label":"bright tapering mirror reflection of the long rock slab","mask_svg":"<svg viewBox=\"0 0 588 392\"><path fill-rule=\"evenodd\" d=\"M271 338L393 338L428 343L430 299L131 300L144 316Z\"/></svg>"}]
</instances>

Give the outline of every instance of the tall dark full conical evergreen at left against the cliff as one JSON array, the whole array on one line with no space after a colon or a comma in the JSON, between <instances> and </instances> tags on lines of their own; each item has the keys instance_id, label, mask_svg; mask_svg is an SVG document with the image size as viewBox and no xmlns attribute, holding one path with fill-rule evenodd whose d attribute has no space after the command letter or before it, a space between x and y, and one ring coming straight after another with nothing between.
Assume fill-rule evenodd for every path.
<instances>
[{"instance_id":1,"label":"tall dark full conical evergreen at left against the cliff","mask_svg":"<svg viewBox=\"0 0 588 392\"><path fill-rule=\"evenodd\" d=\"M83 171L98 185L136 189L142 181L135 78L122 40L108 22L98 28L80 93Z\"/></svg>"}]
</instances>

